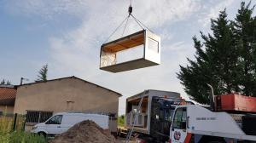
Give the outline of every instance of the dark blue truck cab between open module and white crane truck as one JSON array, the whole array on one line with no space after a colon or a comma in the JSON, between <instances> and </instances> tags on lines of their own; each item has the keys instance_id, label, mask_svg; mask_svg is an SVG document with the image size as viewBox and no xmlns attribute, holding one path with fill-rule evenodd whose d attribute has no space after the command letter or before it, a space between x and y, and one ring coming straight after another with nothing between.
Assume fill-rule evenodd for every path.
<instances>
[{"instance_id":1,"label":"dark blue truck cab between open module and white crane truck","mask_svg":"<svg viewBox=\"0 0 256 143\"><path fill-rule=\"evenodd\" d=\"M173 102L160 97L153 97L151 104L150 135L159 141L169 139Z\"/></svg>"}]
</instances>

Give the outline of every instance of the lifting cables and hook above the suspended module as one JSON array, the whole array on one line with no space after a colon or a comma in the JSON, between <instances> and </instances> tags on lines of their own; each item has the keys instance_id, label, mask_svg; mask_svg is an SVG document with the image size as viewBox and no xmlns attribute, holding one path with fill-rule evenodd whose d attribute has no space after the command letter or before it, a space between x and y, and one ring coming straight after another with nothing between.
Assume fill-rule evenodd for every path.
<instances>
[{"instance_id":1,"label":"lifting cables and hook above the suspended module","mask_svg":"<svg viewBox=\"0 0 256 143\"><path fill-rule=\"evenodd\" d=\"M128 8L128 16L125 17L125 20L123 20L123 21L119 24L119 26L110 34L110 36L108 37L108 39L107 39L104 43L107 43L108 40L110 39L110 37L112 37L113 34L114 34L116 31L118 31L119 28L125 23L125 27L124 27L124 30L123 30L122 35L121 35L121 37L123 37L123 36L124 36L124 33L125 33L126 26L127 26L127 24L128 24L128 20L129 20L130 17L132 17L132 18L137 22L138 26L140 26L143 30L146 29L146 30L148 30L148 31L151 31L147 26L145 26L145 25L143 24L143 22L141 22L140 20L137 20L137 18L136 18L133 14L131 14L131 13L132 13L132 6L131 6L131 0L130 0L130 6L129 6L129 8ZM126 21L126 22L125 22L125 21ZM151 32L153 32L153 31L151 31ZM154 33L154 32L153 32L153 33Z\"/></svg>"}]
</instances>

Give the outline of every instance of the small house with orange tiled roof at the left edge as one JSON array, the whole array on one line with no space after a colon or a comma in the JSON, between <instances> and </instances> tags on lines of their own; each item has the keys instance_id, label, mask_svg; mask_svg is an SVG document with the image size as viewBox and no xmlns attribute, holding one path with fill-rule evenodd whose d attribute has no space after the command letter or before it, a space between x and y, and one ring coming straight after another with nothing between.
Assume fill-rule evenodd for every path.
<instances>
[{"instance_id":1,"label":"small house with orange tiled roof at the left edge","mask_svg":"<svg viewBox=\"0 0 256 143\"><path fill-rule=\"evenodd\" d=\"M0 115L14 112L16 93L13 85L0 85Z\"/></svg>"}]
</instances>

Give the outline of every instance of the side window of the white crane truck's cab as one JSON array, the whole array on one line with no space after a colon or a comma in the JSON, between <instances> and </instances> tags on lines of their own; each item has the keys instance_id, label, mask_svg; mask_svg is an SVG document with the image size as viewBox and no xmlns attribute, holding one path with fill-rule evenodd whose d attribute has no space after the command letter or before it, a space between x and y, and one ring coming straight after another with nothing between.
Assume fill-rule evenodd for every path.
<instances>
[{"instance_id":1,"label":"side window of the white crane truck's cab","mask_svg":"<svg viewBox=\"0 0 256 143\"><path fill-rule=\"evenodd\" d=\"M178 108L173 120L173 129L186 129L187 111L186 108Z\"/></svg>"}]
</instances>

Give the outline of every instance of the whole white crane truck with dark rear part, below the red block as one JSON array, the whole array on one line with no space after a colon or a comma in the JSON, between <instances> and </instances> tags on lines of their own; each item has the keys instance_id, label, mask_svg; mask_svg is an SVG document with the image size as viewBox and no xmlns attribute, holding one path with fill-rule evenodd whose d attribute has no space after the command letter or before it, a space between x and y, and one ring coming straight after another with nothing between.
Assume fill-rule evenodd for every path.
<instances>
[{"instance_id":1,"label":"whole white crane truck with dark rear part, below the red block","mask_svg":"<svg viewBox=\"0 0 256 143\"><path fill-rule=\"evenodd\" d=\"M214 112L198 105L176 106L170 128L170 142L253 143L256 134L251 131L256 128L255 119L256 115L252 113Z\"/></svg>"}]
</instances>

